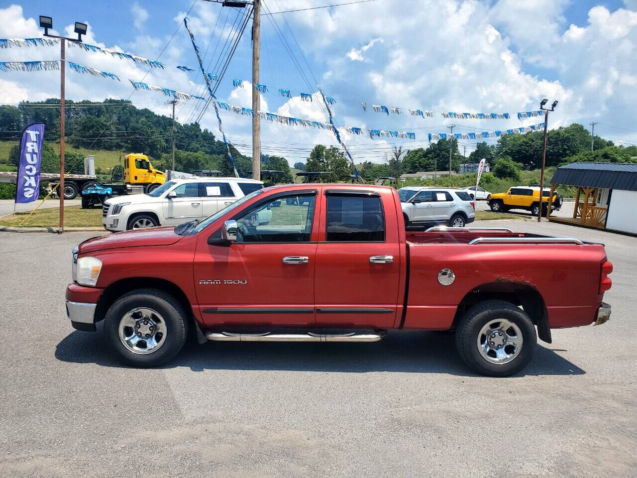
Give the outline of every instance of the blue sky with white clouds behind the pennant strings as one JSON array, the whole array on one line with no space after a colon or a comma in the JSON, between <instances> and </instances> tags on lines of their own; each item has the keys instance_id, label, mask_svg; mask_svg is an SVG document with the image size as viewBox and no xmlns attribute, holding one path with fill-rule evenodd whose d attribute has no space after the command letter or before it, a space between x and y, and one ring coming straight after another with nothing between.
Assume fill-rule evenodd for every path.
<instances>
[{"instance_id":1,"label":"blue sky with white clouds behind the pennant strings","mask_svg":"<svg viewBox=\"0 0 637 478\"><path fill-rule=\"evenodd\" d=\"M266 0L270 11L307 8L331 0ZM50 15L64 31L76 20L90 25L89 43L155 59L175 32L192 0L137 2L29 0L0 2L0 38L39 35L38 15ZM412 117L405 108L434 112L510 112L537 109L541 98L559 99L550 126L598 121L596 132L629 145L637 143L637 1L614 0L378 0L336 8L274 15L276 27L288 42L301 71L294 65L270 18L262 18L262 96L270 112L326 121L317 104L300 101L299 92L315 92L319 83L336 98L334 113L341 126L413 131L417 140L370 140L345 134L359 159L382 161L392 145L407 148L427 144L427 133L445 132L454 122L457 133L508 129L540 122L538 119L448 120ZM197 43L209 54L204 63L220 69L219 52L240 13L203 0L190 12ZM226 20L227 18L227 20ZM33 20L35 19L35 20ZM225 25L225 27L224 27ZM213 31L213 27L216 27ZM250 85L234 88L233 78L250 80L250 25L220 82L218 98L250 107ZM297 46L298 43L298 46ZM217 46L217 54L212 52ZM0 61L55 59L55 48L0 50ZM57 54L59 57L59 54ZM110 71L122 78L141 80L146 69L127 61L69 48L71 61ZM187 33L180 27L161 55L169 66L196 68ZM306 65L305 62L308 62ZM217 69L214 68L218 65ZM302 73L301 73L302 72ZM0 73L0 88L8 103L57 96L55 72ZM306 79L303 78L303 75ZM72 99L128 98L138 106L168 113L166 98L157 92L134 92L130 83L68 73L67 94ZM151 71L145 81L199 94L201 75ZM294 98L280 98L279 87ZM131 95L132 93L132 95ZM368 111L364 112L361 102ZM401 115L371 111L372 104L397 106ZM201 105L178 106L178 120L189 122ZM240 149L250 154L250 120L225 113L224 129ZM217 132L213 114L201 124ZM331 134L300 127L264 124L264 151L284 154L290 163L304 159L315 143L335 143ZM467 154L475 141L464 141Z\"/></svg>"}]
</instances>

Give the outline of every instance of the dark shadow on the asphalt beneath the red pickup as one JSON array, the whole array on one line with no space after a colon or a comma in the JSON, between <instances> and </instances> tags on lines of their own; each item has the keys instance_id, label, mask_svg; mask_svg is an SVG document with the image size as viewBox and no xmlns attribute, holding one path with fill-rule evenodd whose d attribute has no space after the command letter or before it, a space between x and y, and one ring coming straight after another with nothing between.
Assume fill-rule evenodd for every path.
<instances>
[{"instance_id":1,"label":"dark shadow on the asphalt beneath the red pickup","mask_svg":"<svg viewBox=\"0 0 637 478\"><path fill-rule=\"evenodd\" d=\"M55 358L71 363L124 367L97 333L73 331L55 349ZM208 342L189 338L183 350L162 368L203 370L298 370L309 372L412 372L475 376L455 350L454 334L390 331L380 342L300 344L297 342ZM582 375L584 370L544 345L516 376Z\"/></svg>"}]
</instances>

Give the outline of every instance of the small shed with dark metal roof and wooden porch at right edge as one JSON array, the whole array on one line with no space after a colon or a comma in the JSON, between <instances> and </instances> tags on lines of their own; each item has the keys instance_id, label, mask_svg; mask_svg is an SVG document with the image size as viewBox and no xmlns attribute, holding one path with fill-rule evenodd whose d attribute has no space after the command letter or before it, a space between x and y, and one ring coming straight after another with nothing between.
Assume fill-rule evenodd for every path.
<instances>
[{"instance_id":1,"label":"small shed with dark metal roof and wooden porch at right edge","mask_svg":"<svg viewBox=\"0 0 637 478\"><path fill-rule=\"evenodd\" d=\"M560 166L551 179L549 200L559 185L576 188L573 218L547 215L549 221L637 234L636 163Z\"/></svg>"}]
</instances>

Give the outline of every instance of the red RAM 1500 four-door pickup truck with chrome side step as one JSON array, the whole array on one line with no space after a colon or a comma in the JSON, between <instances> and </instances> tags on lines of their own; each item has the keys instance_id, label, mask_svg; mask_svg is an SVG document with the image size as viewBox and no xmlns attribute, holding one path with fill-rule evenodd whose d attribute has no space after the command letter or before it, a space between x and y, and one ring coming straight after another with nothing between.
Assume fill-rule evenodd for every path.
<instances>
[{"instance_id":1,"label":"red RAM 1500 four-door pickup truck with chrome side step","mask_svg":"<svg viewBox=\"0 0 637 478\"><path fill-rule=\"evenodd\" d=\"M269 209L268 224L259 211ZM601 324L603 245L508 229L406 233L384 186L252 192L201 222L89 239L73 250L66 308L133 366L158 366L189 329L206 340L375 342L455 330L478 373L516 373L550 329ZM537 329L537 333L536 333Z\"/></svg>"}]
</instances>

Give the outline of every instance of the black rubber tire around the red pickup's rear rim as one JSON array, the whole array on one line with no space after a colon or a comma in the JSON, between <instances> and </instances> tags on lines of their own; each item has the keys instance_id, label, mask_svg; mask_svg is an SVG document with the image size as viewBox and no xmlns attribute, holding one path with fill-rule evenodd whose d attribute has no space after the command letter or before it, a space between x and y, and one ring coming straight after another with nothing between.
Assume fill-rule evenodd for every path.
<instances>
[{"instance_id":1,"label":"black rubber tire around the red pickup's rear rim","mask_svg":"<svg viewBox=\"0 0 637 478\"><path fill-rule=\"evenodd\" d=\"M510 361L492 363L478 349L478 336L489 322L502 319L513 322L519 328L522 345ZM462 360L476 373L490 377L508 377L520 372L533 358L537 342L535 327L526 312L503 300L487 300L469 308L462 315L455 332L455 345Z\"/></svg>"}]
</instances>

